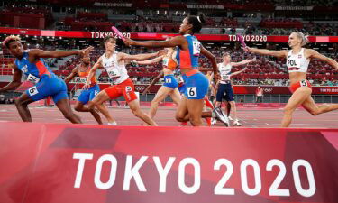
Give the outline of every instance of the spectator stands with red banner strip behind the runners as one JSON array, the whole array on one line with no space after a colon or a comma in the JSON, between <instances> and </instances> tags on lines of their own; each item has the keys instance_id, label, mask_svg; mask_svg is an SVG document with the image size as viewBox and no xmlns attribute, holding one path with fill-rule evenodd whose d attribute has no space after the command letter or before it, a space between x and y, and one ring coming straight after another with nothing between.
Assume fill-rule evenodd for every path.
<instances>
[{"instance_id":1,"label":"spectator stands with red banner strip behind the runners","mask_svg":"<svg viewBox=\"0 0 338 203\"><path fill-rule=\"evenodd\" d=\"M310 35L307 47L337 60L338 37L335 36L338 36L338 3L324 2L213 0L205 5L198 0L75 0L71 4L62 0L2 1L1 14L5 17L0 20L0 41L8 34L20 34L26 49L71 50L93 45L96 51L91 55L91 60L94 62L103 53L102 38L113 34L110 30L112 25L135 40L163 40L178 32L180 22L188 14L204 13L207 22L198 38L214 53L218 61L225 51L232 54L233 61L254 57L242 51L236 34L244 35L249 46L282 50L288 49L288 34L296 30ZM49 6L51 4L53 6ZM125 47L123 42L119 44L120 51L132 54L154 51ZM59 77L65 78L78 65L78 61L77 57L73 57L49 60L49 64ZM2 82L9 80L12 75L11 63L13 59L3 50L0 55ZM200 59L200 63L203 68L210 68L206 59ZM159 74L161 66L128 65L127 68L132 80L142 91ZM250 71L233 78L234 85L288 86L285 60L260 56L248 68ZM242 67L233 71L239 69ZM338 72L328 64L318 60L311 61L308 79L313 86L335 87L337 78ZM75 78L74 82L77 81ZM98 81L110 82L105 71L99 72ZM153 88L151 92L156 90L157 88ZM322 90L318 91L321 93ZM328 91L334 94L334 91ZM288 95L288 91L282 95ZM323 97L321 99L325 102ZM334 98L330 99L334 101Z\"/></svg>"}]
</instances>

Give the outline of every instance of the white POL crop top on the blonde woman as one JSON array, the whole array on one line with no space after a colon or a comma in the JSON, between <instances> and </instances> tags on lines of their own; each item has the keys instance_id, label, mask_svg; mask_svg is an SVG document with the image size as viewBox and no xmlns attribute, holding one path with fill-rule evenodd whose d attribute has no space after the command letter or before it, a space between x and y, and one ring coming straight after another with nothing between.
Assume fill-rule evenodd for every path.
<instances>
[{"instance_id":1,"label":"white POL crop top on the blonde woman","mask_svg":"<svg viewBox=\"0 0 338 203\"><path fill-rule=\"evenodd\" d=\"M306 59L302 48L297 54L293 54L292 50L288 51L287 66L288 72L307 72L309 59Z\"/></svg>"}]
</instances>

